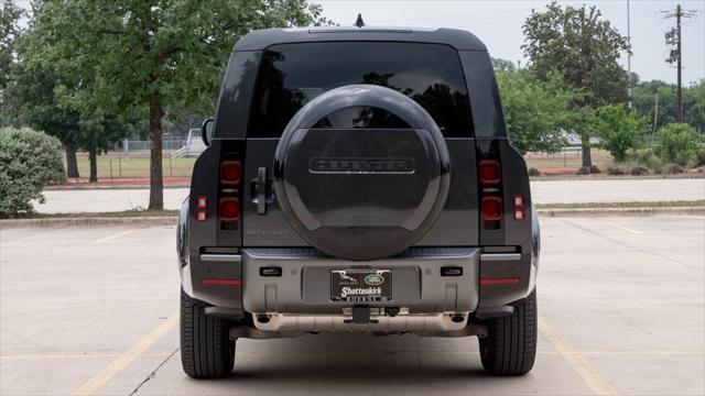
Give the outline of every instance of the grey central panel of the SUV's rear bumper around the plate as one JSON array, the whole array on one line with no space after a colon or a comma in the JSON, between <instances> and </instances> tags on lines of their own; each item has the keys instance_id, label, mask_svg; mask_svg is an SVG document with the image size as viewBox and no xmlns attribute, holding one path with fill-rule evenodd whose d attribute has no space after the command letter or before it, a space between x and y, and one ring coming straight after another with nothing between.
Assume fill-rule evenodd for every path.
<instances>
[{"instance_id":1,"label":"grey central panel of the SUV's rear bumper around the plate","mask_svg":"<svg viewBox=\"0 0 705 396\"><path fill-rule=\"evenodd\" d=\"M312 249L243 249L241 253L247 312L340 315L358 304L332 300L330 272L356 267L392 272L392 300L365 302L370 308L453 314L474 311L478 304L479 249L412 249L371 262L332 258ZM443 276L442 267L462 268L462 274ZM262 268L281 268L281 276L262 276Z\"/></svg>"}]
</instances>

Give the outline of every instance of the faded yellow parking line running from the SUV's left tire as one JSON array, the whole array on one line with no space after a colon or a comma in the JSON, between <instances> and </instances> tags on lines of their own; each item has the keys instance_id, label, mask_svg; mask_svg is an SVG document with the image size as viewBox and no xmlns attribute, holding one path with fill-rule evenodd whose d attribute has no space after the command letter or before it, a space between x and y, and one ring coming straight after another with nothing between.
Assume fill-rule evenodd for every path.
<instances>
[{"instance_id":1,"label":"faded yellow parking line running from the SUV's left tire","mask_svg":"<svg viewBox=\"0 0 705 396\"><path fill-rule=\"evenodd\" d=\"M73 393L73 395L93 395L94 393L96 393L96 391L107 384L110 378L118 374L122 369L127 367L130 362L132 362L135 358L142 355L142 353L154 342L156 342L156 340L159 340L162 336L173 329L176 323L178 323L178 312L170 316L169 319L158 326L143 339L138 341L138 343L132 345L132 348L130 348L127 352L118 356L118 359L110 362L110 364L108 364L105 369L90 377L90 380L88 380L86 383L80 385Z\"/></svg>"}]
</instances>

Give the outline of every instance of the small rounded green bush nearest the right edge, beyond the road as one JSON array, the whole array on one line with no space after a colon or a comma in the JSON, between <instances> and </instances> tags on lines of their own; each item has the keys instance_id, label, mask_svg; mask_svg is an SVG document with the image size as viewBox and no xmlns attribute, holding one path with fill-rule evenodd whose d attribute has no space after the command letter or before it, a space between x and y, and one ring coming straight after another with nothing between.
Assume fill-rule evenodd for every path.
<instances>
[{"instance_id":1,"label":"small rounded green bush nearest the right edge, beyond the road","mask_svg":"<svg viewBox=\"0 0 705 396\"><path fill-rule=\"evenodd\" d=\"M694 165L697 156L697 135L692 127L685 123L670 123L659 130L658 153L666 162L681 166Z\"/></svg>"}]
</instances>

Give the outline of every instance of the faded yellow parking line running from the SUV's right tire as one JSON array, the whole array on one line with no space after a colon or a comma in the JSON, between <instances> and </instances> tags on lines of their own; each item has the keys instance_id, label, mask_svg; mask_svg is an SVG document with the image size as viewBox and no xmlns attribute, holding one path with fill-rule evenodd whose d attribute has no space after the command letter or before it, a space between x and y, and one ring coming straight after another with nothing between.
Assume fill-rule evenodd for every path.
<instances>
[{"instance_id":1,"label":"faded yellow parking line running from the SUV's right tire","mask_svg":"<svg viewBox=\"0 0 705 396\"><path fill-rule=\"evenodd\" d=\"M539 331L553 344L563 359L568 362L571 367L587 383L596 395L617 395L617 391L603 380L599 373L587 363L583 355L543 317L539 317Z\"/></svg>"}]
</instances>

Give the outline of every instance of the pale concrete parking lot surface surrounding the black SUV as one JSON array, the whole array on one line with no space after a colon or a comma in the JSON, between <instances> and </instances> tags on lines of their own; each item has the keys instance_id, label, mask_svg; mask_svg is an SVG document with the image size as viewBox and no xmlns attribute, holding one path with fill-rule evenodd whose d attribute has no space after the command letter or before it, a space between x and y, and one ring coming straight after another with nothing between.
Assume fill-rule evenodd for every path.
<instances>
[{"instance_id":1,"label":"pale concrete parking lot surface surrounding the black SUV","mask_svg":"<svg viewBox=\"0 0 705 396\"><path fill-rule=\"evenodd\" d=\"M539 355L492 377L475 338L238 341L181 370L174 229L0 231L0 394L703 395L705 217L542 220Z\"/></svg>"}]
</instances>

